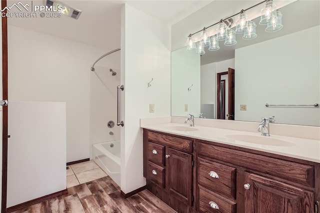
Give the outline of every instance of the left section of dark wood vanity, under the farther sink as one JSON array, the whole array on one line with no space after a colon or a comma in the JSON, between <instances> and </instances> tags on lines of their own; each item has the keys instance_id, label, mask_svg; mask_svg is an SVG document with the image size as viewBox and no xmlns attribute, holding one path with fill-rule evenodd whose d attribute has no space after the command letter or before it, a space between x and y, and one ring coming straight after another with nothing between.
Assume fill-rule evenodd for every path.
<instances>
[{"instance_id":1,"label":"left section of dark wood vanity, under the farther sink","mask_svg":"<svg viewBox=\"0 0 320 213\"><path fill-rule=\"evenodd\" d=\"M178 212L191 209L193 139L144 129L143 149L147 188Z\"/></svg>"}]
</instances>

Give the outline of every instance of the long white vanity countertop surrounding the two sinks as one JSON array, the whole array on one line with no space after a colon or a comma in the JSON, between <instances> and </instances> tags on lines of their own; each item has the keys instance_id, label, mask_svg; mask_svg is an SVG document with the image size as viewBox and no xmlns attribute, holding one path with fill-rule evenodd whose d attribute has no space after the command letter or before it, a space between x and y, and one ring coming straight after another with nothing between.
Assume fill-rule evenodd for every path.
<instances>
[{"instance_id":1,"label":"long white vanity countertop surrounding the two sinks","mask_svg":"<svg viewBox=\"0 0 320 213\"><path fill-rule=\"evenodd\" d=\"M272 135L271 136L261 136L260 132L249 132L249 131L239 131L231 130L225 128L215 128L207 126L194 126L197 130L195 131L180 131L173 130L170 126L188 126L188 124L180 123L158 123L158 124L141 124L141 128L147 128L150 130L161 131L170 134L176 134L181 136L192 137L196 139L208 140L228 145L239 146L243 148L249 148L259 151L265 151L274 154L280 154L284 156L294 157L298 159L309 160L313 162L320 163L320 140L315 139L306 139L298 137L289 137L281 135ZM251 142L244 142L236 139L231 139L232 135L253 135L261 137L262 140L265 137L270 139L280 139L287 141L286 145L265 145L257 144Z\"/></svg>"}]
</instances>

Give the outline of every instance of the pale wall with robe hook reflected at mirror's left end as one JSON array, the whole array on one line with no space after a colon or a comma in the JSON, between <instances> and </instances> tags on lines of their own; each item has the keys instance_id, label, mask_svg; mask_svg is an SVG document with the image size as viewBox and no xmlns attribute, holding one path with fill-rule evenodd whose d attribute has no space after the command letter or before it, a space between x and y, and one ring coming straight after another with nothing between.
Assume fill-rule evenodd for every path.
<instances>
[{"instance_id":1,"label":"pale wall with robe hook reflected at mirror's left end","mask_svg":"<svg viewBox=\"0 0 320 213\"><path fill-rule=\"evenodd\" d=\"M185 48L171 52L171 82L171 114L188 116L190 113L197 117L200 113L200 55ZM184 104L188 105L187 111Z\"/></svg>"}]
</instances>

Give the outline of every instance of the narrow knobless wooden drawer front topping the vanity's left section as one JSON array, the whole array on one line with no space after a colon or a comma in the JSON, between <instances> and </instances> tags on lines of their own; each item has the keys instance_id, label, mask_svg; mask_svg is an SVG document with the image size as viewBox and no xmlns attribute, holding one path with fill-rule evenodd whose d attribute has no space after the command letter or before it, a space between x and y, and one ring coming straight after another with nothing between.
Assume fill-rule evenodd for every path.
<instances>
[{"instance_id":1,"label":"narrow knobless wooden drawer front topping the vanity's left section","mask_svg":"<svg viewBox=\"0 0 320 213\"><path fill-rule=\"evenodd\" d=\"M153 131L148 132L148 139L156 142L160 142L163 145L167 145L172 148L176 148L183 151L192 152L192 140L175 137L163 133L157 133Z\"/></svg>"}]
</instances>

